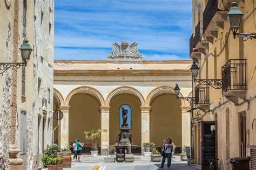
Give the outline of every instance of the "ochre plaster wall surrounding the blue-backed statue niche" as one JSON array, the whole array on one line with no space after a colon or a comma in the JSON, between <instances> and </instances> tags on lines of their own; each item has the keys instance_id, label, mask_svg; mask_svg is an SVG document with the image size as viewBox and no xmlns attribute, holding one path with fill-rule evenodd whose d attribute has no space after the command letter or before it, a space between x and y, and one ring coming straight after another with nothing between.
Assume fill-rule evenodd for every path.
<instances>
[{"instance_id":1,"label":"ochre plaster wall surrounding the blue-backed statue niche","mask_svg":"<svg viewBox=\"0 0 256 170\"><path fill-rule=\"evenodd\" d=\"M110 145L116 143L117 135L119 134L118 119L119 119L119 107L122 104L128 104L131 107L131 122L132 140L134 145L142 145L142 118L140 110L140 101L137 97L129 94L122 94L112 98L110 101L110 134L109 141Z\"/></svg>"}]
</instances>

